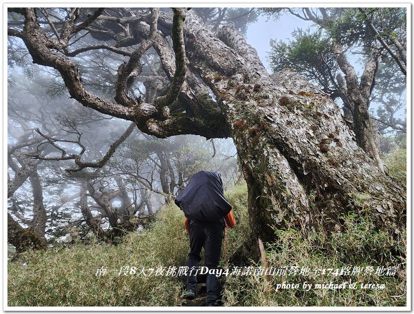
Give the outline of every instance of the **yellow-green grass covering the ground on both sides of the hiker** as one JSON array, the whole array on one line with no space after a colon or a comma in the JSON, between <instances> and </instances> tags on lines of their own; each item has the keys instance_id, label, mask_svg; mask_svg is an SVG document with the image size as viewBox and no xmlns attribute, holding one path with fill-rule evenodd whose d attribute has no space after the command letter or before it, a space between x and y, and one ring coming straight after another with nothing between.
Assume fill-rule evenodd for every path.
<instances>
[{"instance_id":1,"label":"yellow-green grass covering the ground on both sides of the hiker","mask_svg":"<svg viewBox=\"0 0 414 314\"><path fill-rule=\"evenodd\" d=\"M247 188L235 186L226 192L233 206L237 225L227 231L227 257L243 245L250 234L247 214ZM363 201L363 200L359 200ZM266 245L268 266L308 266L306 276L286 273L267 280L263 276L227 276L223 278L224 306L405 306L406 255L404 232L393 239L372 228L370 218L350 213L342 219L343 233L303 235L291 228L275 230L277 240ZM224 250L224 248L222 248ZM394 254L391 254L391 251ZM245 248L245 254L249 252ZM401 257L398 256L401 253ZM184 229L184 214L174 204L166 206L151 230L131 233L121 244L95 243L54 248L47 252L26 252L8 262L8 306L181 306L184 277L118 276L123 266L142 267L185 265L189 238ZM223 251L222 251L223 253ZM221 265L225 267L223 256ZM343 266L398 266L394 277L371 275L314 275L317 268ZM248 265L240 265L248 266ZM250 266L259 264L250 262ZM100 267L109 272L96 276ZM384 283L385 289L311 289L279 290L275 285L288 283L334 283L343 281Z\"/></svg>"}]
</instances>

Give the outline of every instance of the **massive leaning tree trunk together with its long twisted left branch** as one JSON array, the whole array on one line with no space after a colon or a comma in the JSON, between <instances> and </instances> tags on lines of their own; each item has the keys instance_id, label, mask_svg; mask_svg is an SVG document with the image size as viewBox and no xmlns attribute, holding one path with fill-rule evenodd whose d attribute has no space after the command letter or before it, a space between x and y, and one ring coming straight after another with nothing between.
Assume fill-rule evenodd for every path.
<instances>
[{"instance_id":1,"label":"massive leaning tree trunk together with its long twisted left branch","mask_svg":"<svg viewBox=\"0 0 414 314\"><path fill-rule=\"evenodd\" d=\"M302 231L341 230L339 216L349 211L369 215L376 228L389 233L399 233L406 225L405 189L357 145L329 95L290 69L270 76L235 29L227 26L212 33L187 11L188 69L177 100L163 108L157 101L124 106L85 90L69 52L52 52L60 46L37 24L33 9L13 11L24 14L24 28L10 30L9 35L23 39L33 62L57 69L71 96L84 106L134 121L141 131L159 138L232 137L248 185L250 223L262 241L274 239L273 229L286 224ZM160 31L155 33L150 14L128 19L98 16L97 23L100 18L121 24L133 21L130 43L155 36L153 46L173 80L175 56L165 38L171 35L171 14L159 12ZM113 39L119 47L119 36ZM115 47L106 48L116 52ZM83 51L93 49L98 48ZM178 49L183 53L183 46Z\"/></svg>"}]
</instances>

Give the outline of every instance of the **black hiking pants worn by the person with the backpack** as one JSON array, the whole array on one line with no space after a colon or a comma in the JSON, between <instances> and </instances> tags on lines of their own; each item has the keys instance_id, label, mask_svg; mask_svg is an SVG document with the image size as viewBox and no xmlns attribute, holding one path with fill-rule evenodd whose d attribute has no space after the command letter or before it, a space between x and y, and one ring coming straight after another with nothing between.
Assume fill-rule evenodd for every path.
<instances>
[{"instance_id":1,"label":"black hiking pants worn by the person with the backpack","mask_svg":"<svg viewBox=\"0 0 414 314\"><path fill-rule=\"evenodd\" d=\"M224 231L224 219L219 221L192 220L189 222L190 253L187 261L189 272L187 275L187 290L196 291L197 276L194 269L198 269L201 260L200 253L204 247L204 263L208 269L217 269L221 253L221 239ZM192 271L193 269L193 271ZM219 298L221 284L214 274L208 274L206 280L206 305L214 304Z\"/></svg>"}]
</instances>

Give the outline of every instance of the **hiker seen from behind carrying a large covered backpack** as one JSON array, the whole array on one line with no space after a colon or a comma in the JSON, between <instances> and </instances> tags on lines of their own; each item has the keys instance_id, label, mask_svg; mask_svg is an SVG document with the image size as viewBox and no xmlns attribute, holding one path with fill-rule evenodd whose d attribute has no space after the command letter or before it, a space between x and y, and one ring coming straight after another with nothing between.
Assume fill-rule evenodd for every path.
<instances>
[{"instance_id":1,"label":"hiker seen from behind carrying a large covered backpack","mask_svg":"<svg viewBox=\"0 0 414 314\"><path fill-rule=\"evenodd\" d=\"M216 269L220 260L224 228L232 228L236 222L231 205L224 198L223 182L218 172L200 171L193 175L189 184L176 197L175 203L184 211L184 225L190 235L185 298L192 300L196 297L197 276L191 270L199 267L202 247L205 266ZM222 289L217 276L207 275L206 288L206 306L217 306Z\"/></svg>"}]
</instances>

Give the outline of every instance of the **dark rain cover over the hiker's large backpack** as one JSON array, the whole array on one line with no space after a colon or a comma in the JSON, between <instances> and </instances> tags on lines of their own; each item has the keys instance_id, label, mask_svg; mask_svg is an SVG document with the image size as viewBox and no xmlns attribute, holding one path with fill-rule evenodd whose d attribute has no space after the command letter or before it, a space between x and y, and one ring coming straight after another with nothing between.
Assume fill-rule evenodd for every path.
<instances>
[{"instance_id":1,"label":"dark rain cover over the hiker's large backpack","mask_svg":"<svg viewBox=\"0 0 414 314\"><path fill-rule=\"evenodd\" d=\"M220 173L213 171L193 175L174 202L189 220L220 220L231 210L223 195Z\"/></svg>"}]
</instances>

